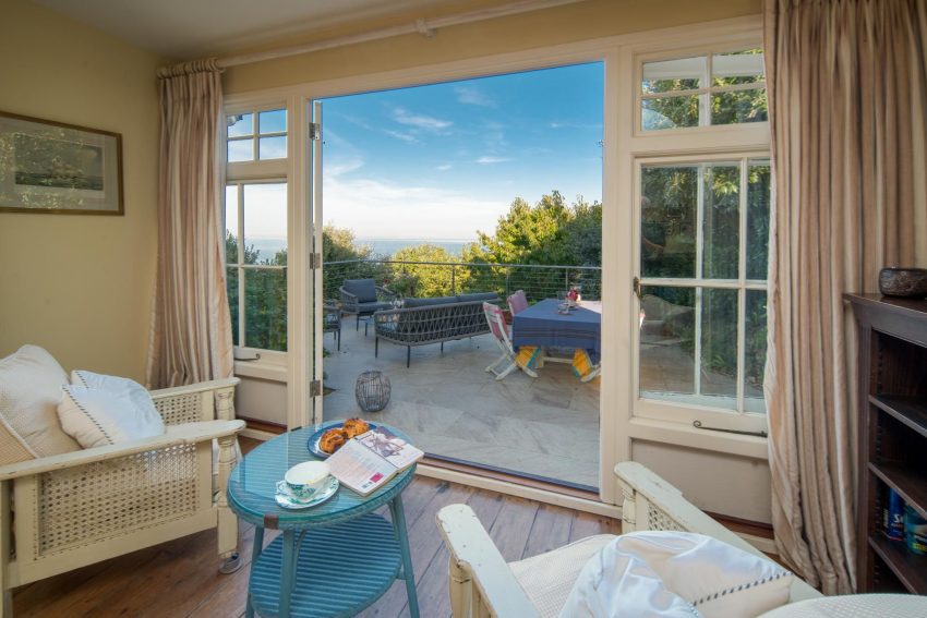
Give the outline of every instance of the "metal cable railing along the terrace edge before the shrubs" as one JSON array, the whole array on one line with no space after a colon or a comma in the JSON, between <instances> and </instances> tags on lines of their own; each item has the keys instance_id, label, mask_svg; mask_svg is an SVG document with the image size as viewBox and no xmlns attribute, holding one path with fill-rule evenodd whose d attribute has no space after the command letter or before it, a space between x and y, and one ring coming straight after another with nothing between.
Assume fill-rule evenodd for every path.
<instances>
[{"instance_id":1,"label":"metal cable railing along the terrace edge before the shrubs","mask_svg":"<svg viewBox=\"0 0 927 618\"><path fill-rule=\"evenodd\" d=\"M575 286L581 286L586 299L600 299L602 293L600 266L348 259L326 262L322 272L326 299L338 299L338 288L346 279L374 279L401 298L468 292L495 292L505 298L525 290L528 301L537 302Z\"/></svg>"}]
</instances>

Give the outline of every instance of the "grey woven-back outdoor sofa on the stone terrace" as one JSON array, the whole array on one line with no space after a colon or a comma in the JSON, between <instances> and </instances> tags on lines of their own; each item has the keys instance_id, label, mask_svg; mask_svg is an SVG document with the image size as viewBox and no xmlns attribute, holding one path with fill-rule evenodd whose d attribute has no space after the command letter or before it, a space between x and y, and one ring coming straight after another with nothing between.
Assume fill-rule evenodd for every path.
<instances>
[{"instance_id":1,"label":"grey woven-back outdoor sofa on the stone terrace","mask_svg":"<svg viewBox=\"0 0 927 618\"><path fill-rule=\"evenodd\" d=\"M498 302L495 292L477 292L438 296L434 299L406 299L400 308L378 311L373 314L376 332L374 355L380 355L380 340L406 347L406 366L411 363L412 347L466 339L490 331L483 315L483 302Z\"/></svg>"}]
</instances>

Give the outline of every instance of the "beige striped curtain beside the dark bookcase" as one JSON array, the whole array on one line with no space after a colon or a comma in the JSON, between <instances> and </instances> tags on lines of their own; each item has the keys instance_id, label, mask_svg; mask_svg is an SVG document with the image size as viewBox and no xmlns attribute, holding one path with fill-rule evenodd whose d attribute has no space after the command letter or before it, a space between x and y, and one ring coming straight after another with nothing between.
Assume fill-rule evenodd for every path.
<instances>
[{"instance_id":1,"label":"beige striped curtain beside the dark bookcase","mask_svg":"<svg viewBox=\"0 0 927 618\"><path fill-rule=\"evenodd\" d=\"M852 592L856 574L856 350L842 294L877 291L883 266L925 264L924 24L918 0L765 7L772 519L781 555L827 594Z\"/></svg>"}]
</instances>

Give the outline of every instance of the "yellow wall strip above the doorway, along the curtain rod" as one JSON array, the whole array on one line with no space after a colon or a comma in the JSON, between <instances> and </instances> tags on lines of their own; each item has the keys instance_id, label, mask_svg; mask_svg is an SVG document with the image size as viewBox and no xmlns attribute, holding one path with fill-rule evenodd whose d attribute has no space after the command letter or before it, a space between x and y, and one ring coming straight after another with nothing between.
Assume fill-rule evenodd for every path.
<instances>
[{"instance_id":1,"label":"yellow wall strip above the doorway, along the curtain rod","mask_svg":"<svg viewBox=\"0 0 927 618\"><path fill-rule=\"evenodd\" d=\"M249 51L324 40L346 34L408 24L420 16L466 12L501 0L448 2L441 13L409 13L280 39ZM754 15L760 0L586 0L554 9L442 28L432 39L405 35L314 53L233 66L226 71L226 93L243 93L349 75L362 75L437 62L462 60L605 36Z\"/></svg>"}]
</instances>

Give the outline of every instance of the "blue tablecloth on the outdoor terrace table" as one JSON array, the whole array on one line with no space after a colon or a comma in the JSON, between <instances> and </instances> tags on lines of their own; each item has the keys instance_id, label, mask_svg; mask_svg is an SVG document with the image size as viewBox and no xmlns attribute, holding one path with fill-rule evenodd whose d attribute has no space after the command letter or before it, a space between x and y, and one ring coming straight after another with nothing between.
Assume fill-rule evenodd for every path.
<instances>
[{"instance_id":1,"label":"blue tablecloth on the outdoor terrace table","mask_svg":"<svg viewBox=\"0 0 927 618\"><path fill-rule=\"evenodd\" d=\"M556 299L545 299L517 313L511 322L513 346L582 349L598 363L602 353L602 304L585 302L568 315L557 313L557 304Z\"/></svg>"}]
</instances>

